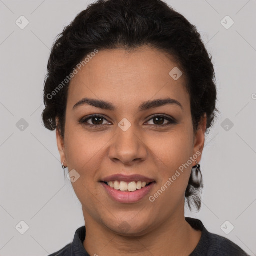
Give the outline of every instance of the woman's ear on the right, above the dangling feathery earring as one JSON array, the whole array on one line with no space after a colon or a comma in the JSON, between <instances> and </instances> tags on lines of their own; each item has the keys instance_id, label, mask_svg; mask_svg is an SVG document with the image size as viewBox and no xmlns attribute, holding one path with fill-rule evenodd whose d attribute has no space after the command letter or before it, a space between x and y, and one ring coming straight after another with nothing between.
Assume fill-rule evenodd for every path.
<instances>
[{"instance_id":1,"label":"woman's ear on the right, above the dangling feathery earring","mask_svg":"<svg viewBox=\"0 0 256 256\"><path fill-rule=\"evenodd\" d=\"M202 150L204 147L204 140L205 140L206 123L207 123L207 115L206 113L204 113L198 125L198 129L194 135L193 154L198 155L197 162L201 160L201 154L202 154Z\"/></svg>"}]
</instances>

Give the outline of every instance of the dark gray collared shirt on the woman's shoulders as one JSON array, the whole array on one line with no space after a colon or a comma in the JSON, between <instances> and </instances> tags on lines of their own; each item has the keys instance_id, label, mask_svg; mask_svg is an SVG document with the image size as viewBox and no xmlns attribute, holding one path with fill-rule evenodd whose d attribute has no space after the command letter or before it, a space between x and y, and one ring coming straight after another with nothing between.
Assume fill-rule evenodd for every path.
<instances>
[{"instance_id":1,"label":"dark gray collared shirt on the woman's shoulders","mask_svg":"<svg viewBox=\"0 0 256 256\"><path fill-rule=\"evenodd\" d=\"M188 256L249 256L238 245L229 239L208 232L199 219L185 217L185 220L196 230L201 230L201 238ZM74 234L73 242L67 244L61 250L49 256L93 256L89 255L83 247L86 229L85 226L79 227ZM103 256L103 254L102 254Z\"/></svg>"}]
</instances>

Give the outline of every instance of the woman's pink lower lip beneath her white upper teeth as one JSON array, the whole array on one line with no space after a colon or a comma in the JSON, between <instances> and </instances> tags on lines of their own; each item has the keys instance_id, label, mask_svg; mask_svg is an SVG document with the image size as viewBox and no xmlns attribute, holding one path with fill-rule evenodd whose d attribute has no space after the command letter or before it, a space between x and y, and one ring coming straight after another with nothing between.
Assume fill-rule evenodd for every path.
<instances>
[{"instance_id":1,"label":"woman's pink lower lip beneath her white upper teeth","mask_svg":"<svg viewBox=\"0 0 256 256\"><path fill-rule=\"evenodd\" d=\"M112 199L120 203L134 203L138 202L142 198L144 198L152 189L155 182L150 183L148 186L145 186L141 189L137 189L133 192L124 192L120 190L116 190L105 183L101 182L103 187L106 189L107 193L110 195Z\"/></svg>"}]
</instances>

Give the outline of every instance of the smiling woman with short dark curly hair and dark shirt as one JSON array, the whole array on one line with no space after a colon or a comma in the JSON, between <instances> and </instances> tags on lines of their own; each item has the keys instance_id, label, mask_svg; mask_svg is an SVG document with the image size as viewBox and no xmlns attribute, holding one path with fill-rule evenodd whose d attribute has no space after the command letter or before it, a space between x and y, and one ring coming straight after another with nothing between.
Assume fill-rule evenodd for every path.
<instances>
[{"instance_id":1,"label":"smiling woman with short dark curly hair and dark shirt","mask_svg":"<svg viewBox=\"0 0 256 256\"><path fill-rule=\"evenodd\" d=\"M247 255L184 217L201 206L214 78L196 28L160 0L100 0L63 30L42 117L85 226L51 255Z\"/></svg>"}]
</instances>

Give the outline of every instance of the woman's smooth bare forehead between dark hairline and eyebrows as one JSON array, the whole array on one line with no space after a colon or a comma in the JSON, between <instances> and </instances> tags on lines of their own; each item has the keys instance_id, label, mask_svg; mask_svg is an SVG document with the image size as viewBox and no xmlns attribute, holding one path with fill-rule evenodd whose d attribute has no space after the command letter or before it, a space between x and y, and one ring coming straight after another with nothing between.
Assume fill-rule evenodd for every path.
<instances>
[{"instance_id":1,"label":"woman's smooth bare forehead between dark hairline and eyebrows","mask_svg":"<svg viewBox=\"0 0 256 256\"><path fill-rule=\"evenodd\" d=\"M180 70L175 59L147 46L131 51L122 48L99 50L81 70L77 70L68 92L68 104L72 106L83 97L126 106L166 96L181 101L182 105L189 102L185 75L176 80L170 75L171 70Z\"/></svg>"}]
</instances>

